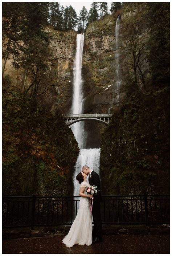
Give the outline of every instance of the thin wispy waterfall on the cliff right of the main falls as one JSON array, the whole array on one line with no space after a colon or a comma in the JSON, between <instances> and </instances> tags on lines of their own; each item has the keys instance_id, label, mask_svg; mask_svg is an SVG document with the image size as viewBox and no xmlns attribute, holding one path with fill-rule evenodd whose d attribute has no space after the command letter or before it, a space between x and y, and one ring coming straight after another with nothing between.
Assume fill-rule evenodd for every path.
<instances>
[{"instance_id":1,"label":"thin wispy waterfall on the cliff right of the main falls","mask_svg":"<svg viewBox=\"0 0 172 256\"><path fill-rule=\"evenodd\" d=\"M116 74L116 81L114 84L114 88L113 88L113 97L110 103L110 108L109 108L109 112L110 109L113 107L113 103L116 99L116 103L119 102L119 90L120 90L120 85L122 82L122 79L120 77L120 72L119 72L119 68L120 68L120 49L119 49L119 32L120 32L120 19L121 16L119 15L117 20L116 20L116 25L115 25L115 46L116 46L116 51L115 51L115 61L116 61L116 65L115 65L115 74Z\"/></svg>"}]
</instances>

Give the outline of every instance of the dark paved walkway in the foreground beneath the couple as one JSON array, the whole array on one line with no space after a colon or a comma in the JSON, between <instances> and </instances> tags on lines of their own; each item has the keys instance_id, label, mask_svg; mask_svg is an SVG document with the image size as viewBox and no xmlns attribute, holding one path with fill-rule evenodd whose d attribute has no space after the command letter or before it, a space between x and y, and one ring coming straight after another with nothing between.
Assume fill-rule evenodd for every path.
<instances>
[{"instance_id":1,"label":"dark paved walkway in the foreground beneath the couple","mask_svg":"<svg viewBox=\"0 0 172 256\"><path fill-rule=\"evenodd\" d=\"M169 254L169 235L104 235L97 244L67 248L64 236L3 240L3 254Z\"/></svg>"}]
</instances>

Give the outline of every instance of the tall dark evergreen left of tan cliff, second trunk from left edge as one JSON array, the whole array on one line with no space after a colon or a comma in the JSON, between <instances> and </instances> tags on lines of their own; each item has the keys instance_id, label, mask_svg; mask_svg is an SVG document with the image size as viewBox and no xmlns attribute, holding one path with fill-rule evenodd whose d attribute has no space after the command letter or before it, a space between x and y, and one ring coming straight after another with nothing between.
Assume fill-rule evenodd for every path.
<instances>
[{"instance_id":1,"label":"tall dark evergreen left of tan cliff, second trunk from left edge","mask_svg":"<svg viewBox=\"0 0 172 256\"><path fill-rule=\"evenodd\" d=\"M25 88L29 69L32 67L34 56L39 56L40 50L48 43L48 34L44 27L48 20L48 3L25 2L23 3L24 20L21 26L20 56L13 61L16 68L24 68L22 89ZM39 44L37 42L39 41ZM44 52L44 51L43 51ZM38 57L39 58L39 57ZM41 56L40 56L41 60Z\"/></svg>"}]
</instances>

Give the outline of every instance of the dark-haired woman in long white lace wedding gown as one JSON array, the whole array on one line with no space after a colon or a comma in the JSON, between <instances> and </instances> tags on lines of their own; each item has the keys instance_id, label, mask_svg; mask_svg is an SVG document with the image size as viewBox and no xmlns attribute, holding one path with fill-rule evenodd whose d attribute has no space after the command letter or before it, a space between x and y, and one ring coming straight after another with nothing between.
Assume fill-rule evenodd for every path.
<instances>
[{"instance_id":1,"label":"dark-haired woman in long white lace wedding gown","mask_svg":"<svg viewBox=\"0 0 172 256\"><path fill-rule=\"evenodd\" d=\"M83 172L79 172L76 178L80 184L79 195L81 196L81 200L79 202L77 216L71 225L69 233L62 240L67 247L73 247L74 244L92 244L92 218L90 214L89 198L92 198L93 195L87 195L85 191L86 187L90 186L86 180L87 175Z\"/></svg>"}]
</instances>

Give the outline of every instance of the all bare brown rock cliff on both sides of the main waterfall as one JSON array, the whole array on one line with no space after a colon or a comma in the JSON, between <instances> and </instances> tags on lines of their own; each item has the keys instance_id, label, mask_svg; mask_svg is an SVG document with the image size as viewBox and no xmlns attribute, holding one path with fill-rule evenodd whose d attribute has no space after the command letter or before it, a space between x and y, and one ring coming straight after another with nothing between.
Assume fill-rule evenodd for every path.
<instances>
[{"instance_id":1,"label":"all bare brown rock cliff on both sides of the main waterfall","mask_svg":"<svg viewBox=\"0 0 172 256\"><path fill-rule=\"evenodd\" d=\"M108 85L115 80L115 22L116 18L108 15L104 20L90 24L85 33L82 61L84 113L108 113L113 90L113 86L108 88ZM52 114L70 113L77 32L59 32L51 27L46 31L50 35L49 65L55 72L53 86L39 98ZM24 70L15 70L8 60L4 74L9 74L11 84L21 88ZM28 77L27 85L30 82ZM90 121L85 123L85 128L87 147L99 147L105 125ZM95 133L97 137L93 142L91 138Z\"/></svg>"}]
</instances>

